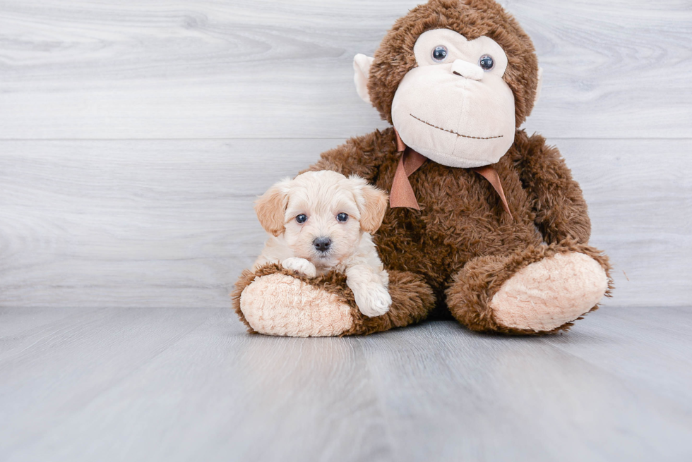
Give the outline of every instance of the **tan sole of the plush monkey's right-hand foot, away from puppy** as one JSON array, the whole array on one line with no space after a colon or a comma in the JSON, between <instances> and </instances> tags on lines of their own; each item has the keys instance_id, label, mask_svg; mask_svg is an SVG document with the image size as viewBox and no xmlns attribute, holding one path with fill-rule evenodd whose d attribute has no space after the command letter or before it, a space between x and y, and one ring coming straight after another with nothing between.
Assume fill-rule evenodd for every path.
<instances>
[{"instance_id":1,"label":"tan sole of the plush monkey's right-hand foot, away from puppy","mask_svg":"<svg viewBox=\"0 0 692 462\"><path fill-rule=\"evenodd\" d=\"M495 320L515 329L549 332L589 312L608 289L599 263L559 253L520 269L490 300Z\"/></svg>"}]
</instances>

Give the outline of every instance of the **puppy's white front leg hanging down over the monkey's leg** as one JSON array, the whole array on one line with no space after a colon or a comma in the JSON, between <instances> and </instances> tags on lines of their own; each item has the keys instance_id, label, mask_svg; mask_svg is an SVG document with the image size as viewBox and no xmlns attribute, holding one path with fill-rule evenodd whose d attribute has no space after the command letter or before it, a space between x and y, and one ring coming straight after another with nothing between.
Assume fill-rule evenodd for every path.
<instances>
[{"instance_id":1,"label":"puppy's white front leg hanging down over the monkey's leg","mask_svg":"<svg viewBox=\"0 0 692 462\"><path fill-rule=\"evenodd\" d=\"M356 305L364 315L374 317L389 311L392 298L376 269L368 265L348 267L346 269L346 285L353 292Z\"/></svg>"}]
</instances>

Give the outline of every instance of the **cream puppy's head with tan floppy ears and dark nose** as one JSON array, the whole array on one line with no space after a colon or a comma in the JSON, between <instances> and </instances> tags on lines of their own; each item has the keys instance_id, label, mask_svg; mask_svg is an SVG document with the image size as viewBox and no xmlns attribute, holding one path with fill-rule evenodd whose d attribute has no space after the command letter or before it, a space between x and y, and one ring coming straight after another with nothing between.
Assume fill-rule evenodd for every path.
<instances>
[{"instance_id":1,"label":"cream puppy's head with tan floppy ears and dark nose","mask_svg":"<svg viewBox=\"0 0 692 462\"><path fill-rule=\"evenodd\" d=\"M386 208L387 195L363 178L327 170L281 181L255 206L266 231L283 233L296 257L322 268L352 255L362 232L380 227Z\"/></svg>"}]
</instances>

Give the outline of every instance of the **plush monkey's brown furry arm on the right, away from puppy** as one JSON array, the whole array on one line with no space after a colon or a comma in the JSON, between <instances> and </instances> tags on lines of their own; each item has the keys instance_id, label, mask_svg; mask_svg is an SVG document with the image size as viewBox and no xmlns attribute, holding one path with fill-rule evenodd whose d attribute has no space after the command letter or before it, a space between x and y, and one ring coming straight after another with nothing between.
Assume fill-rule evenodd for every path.
<instances>
[{"instance_id":1,"label":"plush monkey's brown furry arm on the right, away from puppy","mask_svg":"<svg viewBox=\"0 0 692 462\"><path fill-rule=\"evenodd\" d=\"M591 221L582 190L556 147L523 131L515 138L515 164L525 190L533 198L535 223L547 243L573 238L588 243Z\"/></svg>"}]
</instances>

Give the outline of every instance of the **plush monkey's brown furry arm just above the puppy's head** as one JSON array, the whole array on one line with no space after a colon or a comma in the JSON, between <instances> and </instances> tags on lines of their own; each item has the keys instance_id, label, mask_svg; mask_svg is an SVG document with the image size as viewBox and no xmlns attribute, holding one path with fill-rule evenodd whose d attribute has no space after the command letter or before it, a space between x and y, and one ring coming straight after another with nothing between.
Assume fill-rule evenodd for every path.
<instances>
[{"instance_id":1,"label":"plush monkey's brown furry arm just above the puppy's head","mask_svg":"<svg viewBox=\"0 0 692 462\"><path fill-rule=\"evenodd\" d=\"M373 183L384 160L395 155L394 130L375 130L373 133L351 138L333 150L323 152L321 159L309 166L306 171L333 170L346 176L362 176Z\"/></svg>"}]
</instances>

